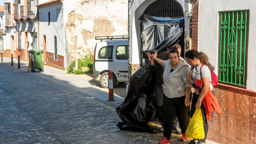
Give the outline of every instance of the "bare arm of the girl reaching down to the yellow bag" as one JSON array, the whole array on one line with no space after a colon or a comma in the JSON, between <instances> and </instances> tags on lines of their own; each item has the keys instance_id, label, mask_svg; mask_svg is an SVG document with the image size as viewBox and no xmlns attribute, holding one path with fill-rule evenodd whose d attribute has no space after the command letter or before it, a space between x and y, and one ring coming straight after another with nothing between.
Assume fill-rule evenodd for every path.
<instances>
[{"instance_id":1,"label":"bare arm of the girl reaching down to the yellow bag","mask_svg":"<svg viewBox=\"0 0 256 144\"><path fill-rule=\"evenodd\" d=\"M207 91L209 90L210 88L210 78L209 77L203 77L203 88L202 88L202 91L199 95L199 98L196 102L196 108L200 108L201 107L201 104L202 104L202 100L204 99Z\"/></svg>"}]
</instances>

